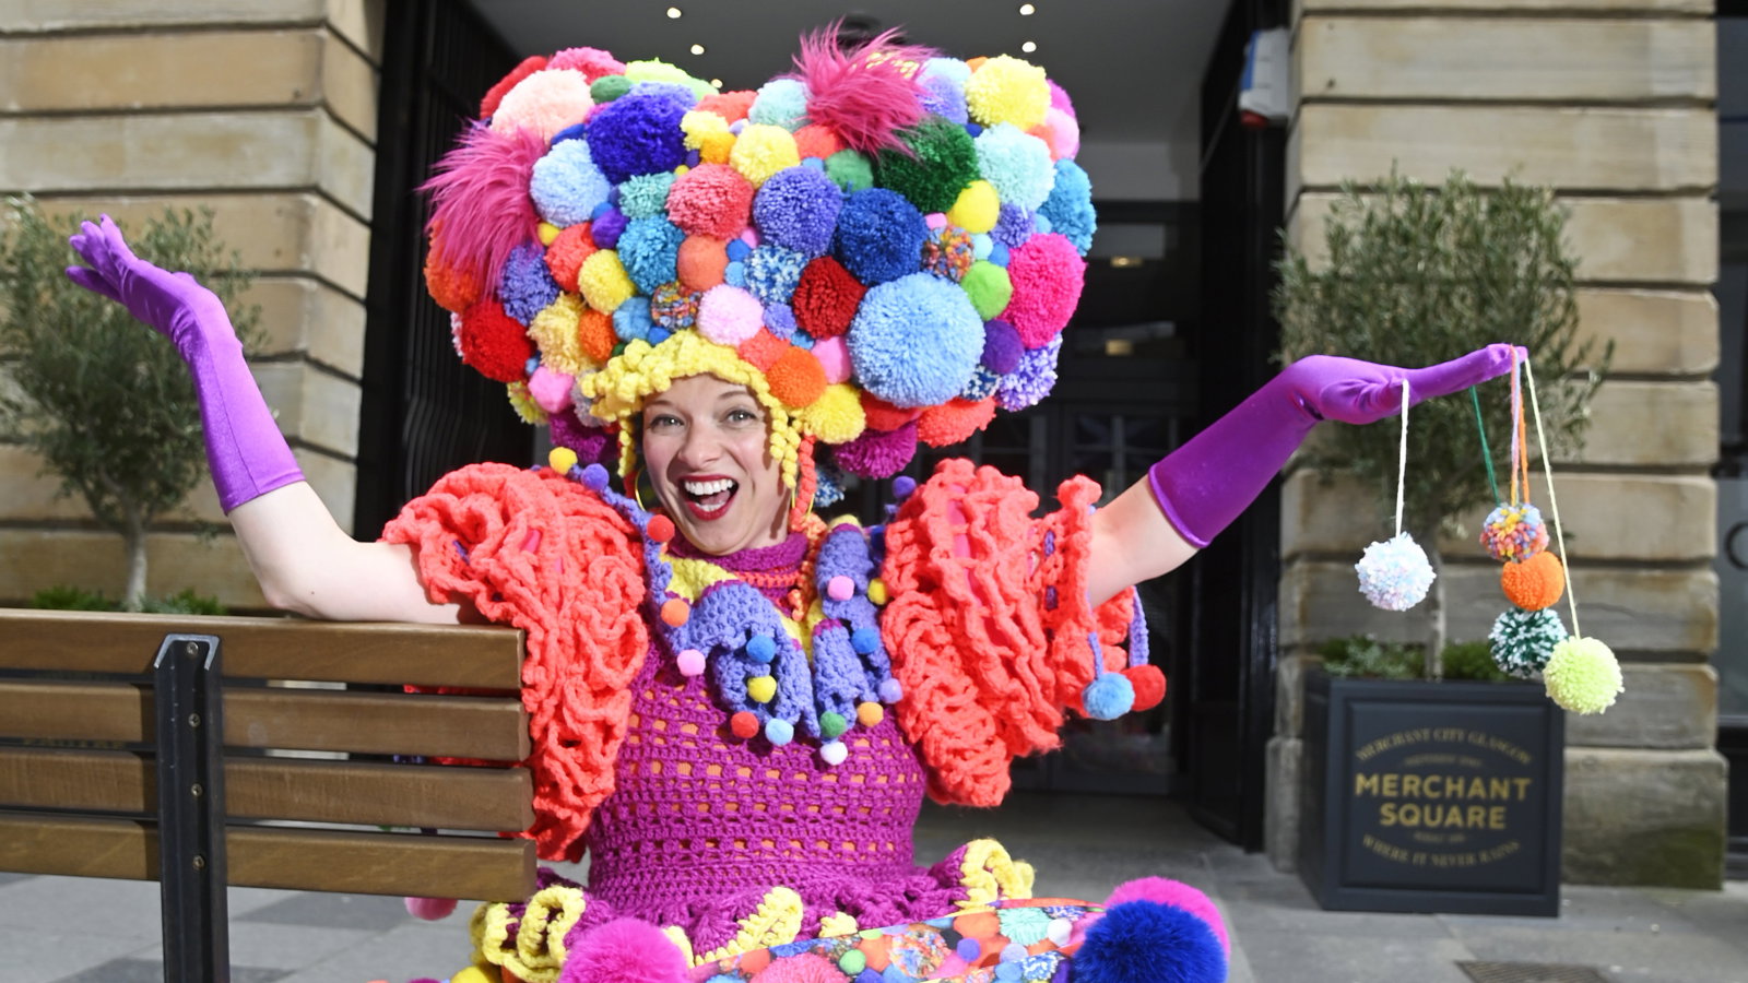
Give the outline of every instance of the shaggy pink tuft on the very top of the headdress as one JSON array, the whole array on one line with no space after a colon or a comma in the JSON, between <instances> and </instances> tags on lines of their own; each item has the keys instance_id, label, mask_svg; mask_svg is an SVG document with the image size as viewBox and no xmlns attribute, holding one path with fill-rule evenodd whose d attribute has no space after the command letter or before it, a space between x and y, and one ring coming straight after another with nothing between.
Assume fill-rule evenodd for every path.
<instances>
[{"instance_id":1,"label":"shaggy pink tuft on the very top of the headdress","mask_svg":"<svg viewBox=\"0 0 1748 983\"><path fill-rule=\"evenodd\" d=\"M844 145L872 154L881 149L909 149L898 131L923 121L918 101L921 86L916 70L935 56L935 51L914 44L893 44L898 30L857 47L837 47L837 28L804 35L795 72L790 75L808 86L808 119L830 126Z\"/></svg>"}]
</instances>

